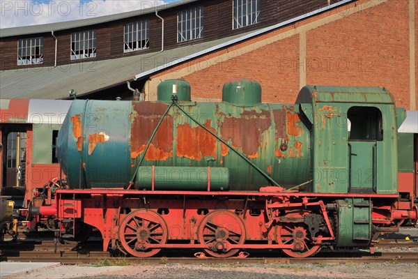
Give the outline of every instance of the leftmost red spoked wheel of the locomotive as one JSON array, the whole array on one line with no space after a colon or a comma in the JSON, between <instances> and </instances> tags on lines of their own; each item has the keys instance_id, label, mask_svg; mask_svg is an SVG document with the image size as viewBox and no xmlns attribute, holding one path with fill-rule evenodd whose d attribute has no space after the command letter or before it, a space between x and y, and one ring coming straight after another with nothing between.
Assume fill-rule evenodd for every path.
<instances>
[{"instance_id":1,"label":"leftmost red spoked wheel of the locomotive","mask_svg":"<svg viewBox=\"0 0 418 279\"><path fill-rule=\"evenodd\" d=\"M140 209L129 213L119 226L119 240L123 249L135 257L151 257L161 249L147 248L148 243L167 241L167 225L154 211Z\"/></svg>"}]
</instances>

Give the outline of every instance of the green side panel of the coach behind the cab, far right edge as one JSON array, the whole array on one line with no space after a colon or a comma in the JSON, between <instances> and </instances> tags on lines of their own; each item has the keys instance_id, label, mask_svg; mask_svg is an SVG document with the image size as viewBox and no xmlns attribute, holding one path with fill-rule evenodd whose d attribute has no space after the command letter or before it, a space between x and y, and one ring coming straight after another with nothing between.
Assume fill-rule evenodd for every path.
<instances>
[{"instance_id":1,"label":"green side panel of the coach behind the cab, far right edge","mask_svg":"<svg viewBox=\"0 0 418 279\"><path fill-rule=\"evenodd\" d=\"M414 134L398 133L398 170L414 172Z\"/></svg>"}]
</instances>

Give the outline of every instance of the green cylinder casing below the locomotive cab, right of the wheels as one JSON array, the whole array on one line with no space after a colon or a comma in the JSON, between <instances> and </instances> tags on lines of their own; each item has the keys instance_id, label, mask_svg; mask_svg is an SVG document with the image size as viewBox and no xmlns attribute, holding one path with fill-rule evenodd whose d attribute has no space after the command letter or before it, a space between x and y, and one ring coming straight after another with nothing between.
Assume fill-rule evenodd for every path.
<instances>
[{"instance_id":1,"label":"green cylinder casing below the locomotive cab, right of the wheels","mask_svg":"<svg viewBox=\"0 0 418 279\"><path fill-rule=\"evenodd\" d=\"M337 201L336 247L369 246L372 223L371 209L372 205L369 200L362 198Z\"/></svg>"}]
</instances>

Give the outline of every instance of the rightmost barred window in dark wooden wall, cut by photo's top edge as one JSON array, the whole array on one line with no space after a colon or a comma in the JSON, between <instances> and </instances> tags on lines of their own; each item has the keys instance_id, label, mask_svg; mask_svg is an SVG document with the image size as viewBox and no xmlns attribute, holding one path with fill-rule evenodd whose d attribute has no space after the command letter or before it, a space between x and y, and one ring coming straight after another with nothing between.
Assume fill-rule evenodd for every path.
<instances>
[{"instance_id":1,"label":"rightmost barred window in dark wooden wall, cut by photo's top edge","mask_svg":"<svg viewBox=\"0 0 418 279\"><path fill-rule=\"evenodd\" d=\"M233 0L233 29L260 22L260 0Z\"/></svg>"}]
</instances>

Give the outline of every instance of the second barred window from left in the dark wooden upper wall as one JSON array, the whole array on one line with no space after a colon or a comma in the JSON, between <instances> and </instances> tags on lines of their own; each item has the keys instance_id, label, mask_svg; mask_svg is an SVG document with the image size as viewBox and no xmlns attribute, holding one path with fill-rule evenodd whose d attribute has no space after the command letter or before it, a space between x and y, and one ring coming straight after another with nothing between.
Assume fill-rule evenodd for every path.
<instances>
[{"instance_id":1,"label":"second barred window from left in the dark wooden upper wall","mask_svg":"<svg viewBox=\"0 0 418 279\"><path fill-rule=\"evenodd\" d=\"M96 56L95 31L71 34L71 59L83 59Z\"/></svg>"}]
</instances>

